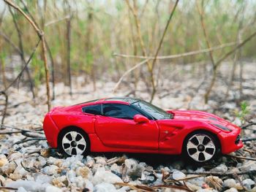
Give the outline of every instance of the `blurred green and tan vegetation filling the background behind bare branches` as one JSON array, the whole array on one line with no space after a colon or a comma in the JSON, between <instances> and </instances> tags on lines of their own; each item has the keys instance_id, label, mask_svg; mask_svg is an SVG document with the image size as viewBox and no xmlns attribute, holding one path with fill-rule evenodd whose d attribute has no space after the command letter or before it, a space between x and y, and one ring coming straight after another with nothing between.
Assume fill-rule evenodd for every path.
<instances>
[{"instance_id":1,"label":"blurred green and tan vegetation filling the background behind bare branches","mask_svg":"<svg viewBox=\"0 0 256 192\"><path fill-rule=\"evenodd\" d=\"M135 29L135 20L125 1L27 0L24 3L28 9L24 7L22 1L13 0L13 2L27 14L33 15L34 20L45 32L45 39L53 58L55 81L69 83L68 55L70 55L72 77L83 75L87 82L94 83L97 80L117 81L127 69L140 62L140 59L113 56L113 53L143 55ZM175 2L171 0L135 2L147 53L154 55ZM207 48L196 4L195 0L179 2L159 55L174 55ZM4 2L1 2L0 6L0 32L18 46L18 31L15 29L10 9ZM238 35L241 35L241 39L245 39L256 31L256 1L205 0L202 9L204 9L204 23L211 47L237 42ZM13 14L21 31L23 51L27 58L38 37L19 12L13 9ZM68 30L70 30L70 39ZM68 43L70 50L67 49ZM18 53L2 36L0 45L1 71L12 70L10 61L13 61L13 56ZM240 57L255 58L255 45L256 38L243 47ZM225 47L215 50L214 58L218 60L223 53L231 49L232 47ZM203 53L159 62L188 64L208 60L208 53ZM52 63L50 59L49 62ZM49 66L52 70L52 65ZM29 64L29 71L35 86L45 81L42 54L39 50ZM136 73L131 75L134 77Z\"/></svg>"}]
</instances>

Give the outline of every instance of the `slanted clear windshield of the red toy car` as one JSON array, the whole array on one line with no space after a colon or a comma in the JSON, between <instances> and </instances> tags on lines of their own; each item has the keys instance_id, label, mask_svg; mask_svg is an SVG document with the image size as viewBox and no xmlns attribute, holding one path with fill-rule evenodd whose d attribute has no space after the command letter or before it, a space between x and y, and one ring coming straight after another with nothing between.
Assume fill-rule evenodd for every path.
<instances>
[{"instance_id":1,"label":"slanted clear windshield of the red toy car","mask_svg":"<svg viewBox=\"0 0 256 192\"><path fill-rule=\"evenodd\" d=\"M135 107L138 107L140 110L143 110L148 115L151 115L153 118L159 119L171 119L173 115L170 113L165 112L164 110L160 109L159 107L154 106L146 101L136 101L133 103Z\"/></svg>"}]
</instances>

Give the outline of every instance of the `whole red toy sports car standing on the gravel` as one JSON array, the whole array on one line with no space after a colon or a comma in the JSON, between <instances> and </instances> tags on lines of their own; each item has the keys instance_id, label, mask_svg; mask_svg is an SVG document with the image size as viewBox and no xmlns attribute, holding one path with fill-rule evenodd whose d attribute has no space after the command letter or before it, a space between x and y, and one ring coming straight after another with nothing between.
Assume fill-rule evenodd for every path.
<instances>
[{"instance_id":1,"label":"whole red toy sports car standing on the gravel","mask_svg":"<svg viewBox=\"0 0 256 192\"><path fill-rule=\"evenodd\" d=\"M66 155L91 152L184 154L206 162L243 146L241 128L207 112L162 110L141 99L97 99L55 107L45 115L50 147Z\"/></svg>"}]
</instances>

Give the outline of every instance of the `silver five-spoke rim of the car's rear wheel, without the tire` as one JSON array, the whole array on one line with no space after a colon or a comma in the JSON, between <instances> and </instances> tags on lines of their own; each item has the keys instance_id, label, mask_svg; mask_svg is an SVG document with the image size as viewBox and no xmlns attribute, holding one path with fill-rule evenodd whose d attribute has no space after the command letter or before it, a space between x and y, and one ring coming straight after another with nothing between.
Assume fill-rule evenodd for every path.
<instances>
[{"instance_id":1,"label":"silver five-spoke rim of the car's rear wheel, without the tire","mask_svg":"<svg viewBox=\"0 0 256 192\"><path fill-rule=\"evenodd\" d=\"M86 150L86 139L77 131L69 131L64 134L61 145L68 155L83 155Z\"/></svg>"}]
</instances>

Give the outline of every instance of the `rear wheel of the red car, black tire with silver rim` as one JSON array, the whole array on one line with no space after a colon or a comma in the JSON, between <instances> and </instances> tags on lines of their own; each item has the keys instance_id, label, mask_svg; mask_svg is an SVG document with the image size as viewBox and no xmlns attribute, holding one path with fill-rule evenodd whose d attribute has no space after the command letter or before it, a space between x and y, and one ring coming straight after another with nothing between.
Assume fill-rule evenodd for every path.
<instances>
[{"instance_id":1,"label":"rear wheel of the red car, black tire with silver rim","mask_svg":"<svg viewBox=\"0 0 256 192\"><path fill-rule=\"evenodd\" d=\"M58 147L67 156L87 155L90 151L90 140L81 128L68 127L59 133Z\"/></svg>"}]
</instances>

